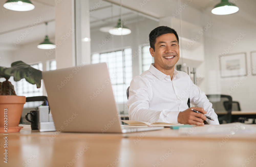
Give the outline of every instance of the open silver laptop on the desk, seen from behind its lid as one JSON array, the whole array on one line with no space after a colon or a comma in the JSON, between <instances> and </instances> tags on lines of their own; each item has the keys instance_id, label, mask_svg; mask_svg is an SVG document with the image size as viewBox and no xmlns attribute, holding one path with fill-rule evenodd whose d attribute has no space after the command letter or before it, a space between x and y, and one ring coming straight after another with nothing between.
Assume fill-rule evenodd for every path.
<instances>
[{"instance_id":1,"label":"open silver laptop on the desk, seen from behind its lid","mask_svg":"<svg viewBox=\"0 0 256 167\"><path fill-rule=\"evenodd\" d=\"M122 126L106 63L43 71L56 130L127 133L164 127Z\"/></svg>"}]
</instances>

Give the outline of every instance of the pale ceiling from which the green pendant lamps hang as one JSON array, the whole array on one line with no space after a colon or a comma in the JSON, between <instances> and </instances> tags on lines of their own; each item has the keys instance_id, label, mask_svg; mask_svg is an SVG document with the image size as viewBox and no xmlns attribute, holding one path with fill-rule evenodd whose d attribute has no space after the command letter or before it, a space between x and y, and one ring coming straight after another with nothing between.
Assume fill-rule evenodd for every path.
<instances>
[{"instance_id":1,"label":"pale ceiling from which the green pendant lamps hang","mask_svg":"<svg viewBox=\"0 0 256 167\"><path fill-rule=\"evenodd\" d=\"M3 6L6 0L0 0L0 5ZM230 0L231 1L231 0ZM256 23L256 1L236 1L236 5L240 10L236 17L240 20L249 20L253 24ZM89 6L93 7L99 0L90 0ZM122 3L122 10L117 4ZM142 6L141 3L146 2ZM211 9L220 2L220 0L182 0L181 4L185 2L194 6L195 8L210 13ZM27 12L17 12L12 10L5 10L2 7L0 12L0 50L13 50L17 49L26 43L34 41L43 41L45 36L45 22L48 21L48 35L50 39L54 39L55 34L55 1L54 0L32 0L35 5L35 9ZM98 30L104 26L115 26L117 20L120 18L120 12L122 13L123 20L129 20L129 23L134 21L141 21L144 17L152 19L159 19L164 16L171 15L177 6L177 0L151 0L151 1L138 1L138 0L108 0L103 1L100 7L90 15L91 31ZM163 7L164 6L164 7ZM169 6L166 7L166 6ZM137 12L139 11L139 12ZM218 17L214 15L212 17ZM40 18L40 19L39 19ZM219 17L220 19L227 20L226 17ZM232 20L235 25L239 19ZM37 24L36 21L39 23ZM239 24L239 22L237 23ZM32 25L35 27L32 29ZM22 34L26 37L23 39ZM23 39L17 46L14 46L14 42L17 42L17 38ZM53 41L54 42L54 41Z\"/></svg>"}]
</instances>

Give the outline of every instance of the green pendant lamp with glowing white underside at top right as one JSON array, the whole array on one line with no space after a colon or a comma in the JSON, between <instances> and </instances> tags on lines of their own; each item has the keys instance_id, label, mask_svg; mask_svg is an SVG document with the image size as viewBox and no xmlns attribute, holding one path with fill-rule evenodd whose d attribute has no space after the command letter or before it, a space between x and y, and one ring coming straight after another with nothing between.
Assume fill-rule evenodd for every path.
<instances>
[{"instance_id":1,"label":"green pendant lamp with glowing white underside at top right","mask_svg":"<svg viewBox=\"0 0 256 167\"><path fill-rule=\"evenodd\" d=\"M235 4L228 2L228 0L221 0L221 2L211 10L211 13L215 15L229 15L236 13L238 10L239 8Z\"/></svg>"}]
</instances>

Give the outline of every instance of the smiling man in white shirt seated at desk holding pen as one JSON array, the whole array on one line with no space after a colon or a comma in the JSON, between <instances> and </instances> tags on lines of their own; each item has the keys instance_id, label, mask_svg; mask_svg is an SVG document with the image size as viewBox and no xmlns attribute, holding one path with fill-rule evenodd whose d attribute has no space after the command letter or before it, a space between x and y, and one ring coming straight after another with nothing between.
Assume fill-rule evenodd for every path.
<instances>
[{"instance_id":1,"label":"smiling man in white shirt seated at desk holding pen","mask_svg":"<svg viewBox=\"0 0 256 167\"><path fill-rule=\"evenodd\" d=\"M167 122L204 125L219 124L212 104L187 73L174 69L179 60L179 37L167 26L150 32L150 69L132 79L129 89L129 119L145 122ZM197 107L188 108L187 101ZM205 117L207 114L213 120Z\"/></svg>"}]
</instances>

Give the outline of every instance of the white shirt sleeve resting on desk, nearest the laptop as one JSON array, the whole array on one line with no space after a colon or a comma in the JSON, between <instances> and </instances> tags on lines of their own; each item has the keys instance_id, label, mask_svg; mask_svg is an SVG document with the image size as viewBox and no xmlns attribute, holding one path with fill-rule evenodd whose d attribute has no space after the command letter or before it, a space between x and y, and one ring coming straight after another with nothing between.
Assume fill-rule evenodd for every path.
<instances>
[{"instance_id":1,"label":"white shirt sleeve resting on desk, nearest the laptop","mask_svg":"<svg viewBox=\"0 0 256 167\"><path fill-rule=\"evenodd\" d=\"M152 95L152 82L149 82L146 78L141 76L133 78L129 88L129 99L127 101L129 119L151 123L178 123L179 111L149 109L150 99L153 98Z\"/></svg>"}]
</instances>

